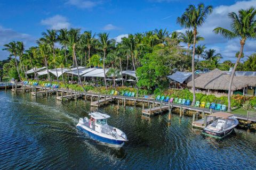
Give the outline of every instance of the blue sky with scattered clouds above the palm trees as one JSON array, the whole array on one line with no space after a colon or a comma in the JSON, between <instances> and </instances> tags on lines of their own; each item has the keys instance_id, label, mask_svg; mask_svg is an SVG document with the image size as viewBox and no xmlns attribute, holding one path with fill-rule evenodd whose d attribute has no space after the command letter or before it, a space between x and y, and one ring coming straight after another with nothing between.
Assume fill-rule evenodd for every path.
<instances>
[{"instance_id":1,"label":"blue sky with scattered clouds above the palm trees","mask_svg":"<svg viewBox=\"0 0 256 170\"><path fill-rule=\"evenodd\" d=\"M213 48L221 53L223 60L235 61L239 50L239 39L228 40L215 35L216 27L230 28L229 12L241 8L256 6L251 1L197 1L213 6L213 13L198 29L204 37L207 49ZM46 29L81 28L82 31L107 32L110 38L120 41L129 33L145 32L155 29L178 30L185 32L177 23L188 0L13 0L0 1L0 60L9 53L3 51L3 45L10 41L23 41L26 48L35 45ZM247 40L244 53L250 55L256 51L256 40ZM246 57L242 60L246 60Z\"/></svg>"}]
</instances>

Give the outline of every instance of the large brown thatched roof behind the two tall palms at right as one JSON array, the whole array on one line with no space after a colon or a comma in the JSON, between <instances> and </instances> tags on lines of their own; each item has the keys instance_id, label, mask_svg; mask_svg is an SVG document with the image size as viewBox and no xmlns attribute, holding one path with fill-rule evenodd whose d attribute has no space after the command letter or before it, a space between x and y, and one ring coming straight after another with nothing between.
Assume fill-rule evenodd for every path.
<instances>
[{"instance_id":1,"label":"large brown thatched roof behind the two tall palms at right","mask_svg":"<svg viewBox=\"0 0 256 170\"><path fill-rule=\"evenodd\" d=\"M249 73L249 74L248 74ZM195 87L198 89L227 91L231 73L229 71L221 71L219 69L212 70L208 73L202 74L195 79ZM188 87L192 87L192 82L188 82ZM236 90L243 90L243 95L250 91L250 95L256 93L256 75L254 72L236 72L233 84L231 86L232 93Z\"/></svg>"}]
</instances>

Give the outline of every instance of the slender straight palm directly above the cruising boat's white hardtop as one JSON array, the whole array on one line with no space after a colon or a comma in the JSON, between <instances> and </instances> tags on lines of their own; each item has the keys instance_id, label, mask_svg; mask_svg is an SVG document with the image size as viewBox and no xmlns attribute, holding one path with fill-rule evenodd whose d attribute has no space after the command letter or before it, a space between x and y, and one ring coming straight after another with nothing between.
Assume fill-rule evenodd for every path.
<instances>
[{"instance_id":1,"label":"slender straight palm directly above the cruising boat's white hardtop","mask_svg":"<svg viewBox=\"0 0 256 170\"><path fill-rule=\"evenodd\" d=\"M108 39L108 33L106 33L106 32L99 33L99 43L100 43L101 49L103 50L103 53L104 53L103 54L103 72L104 72L105 87L107 90L108 87L107 87L106 71L105 71L105 59L106 59L106 51L110 44L110 41Z\"/></svg>"}]
</instances>

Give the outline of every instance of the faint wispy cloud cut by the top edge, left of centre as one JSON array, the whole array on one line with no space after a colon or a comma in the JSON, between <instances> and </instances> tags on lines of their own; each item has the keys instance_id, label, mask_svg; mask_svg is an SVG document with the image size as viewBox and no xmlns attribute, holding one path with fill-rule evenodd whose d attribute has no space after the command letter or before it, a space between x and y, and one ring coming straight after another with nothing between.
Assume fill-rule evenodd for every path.
<instances>
[{"instance_id":1,"label":"faint wispy cloud cut by the top edge, left of centre","mask_svg":"<svg viewBox=\"0 0 256 170\"><path fill-rule=\"evenodd\" d=\"M84 0L68 0L66 2L66 4L74 5L78 8L92 8L101 3L102 3L101 1L84 1Z\"/></svg>"}]
</instances>

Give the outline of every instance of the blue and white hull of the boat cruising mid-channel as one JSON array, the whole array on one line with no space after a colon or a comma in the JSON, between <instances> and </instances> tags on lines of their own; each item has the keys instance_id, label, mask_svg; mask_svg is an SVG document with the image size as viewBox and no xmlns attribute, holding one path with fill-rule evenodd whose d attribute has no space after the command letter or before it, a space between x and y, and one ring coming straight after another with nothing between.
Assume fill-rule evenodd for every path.
<instances>
[{"instance_id":1,"label":"blue and white hull of the boat cruising mid-channel","mask_svg":"<svg viewBox=\"0 0 256 170\"><path fill-rule=\"evenodd\" d=\"M105 138L102 137L96 133L90 132L89 130L84 129L82 126L80 126L79 124L77 125L77 128L79 130L81 130L82 132L88 134L92 139L103 142L103 143L108 143L111 145L115 145L117 147L122 147L124 145L124 141L123 140L115 140L115 139L109 139L109 138Z\"/></svg>"}]
</instances>

